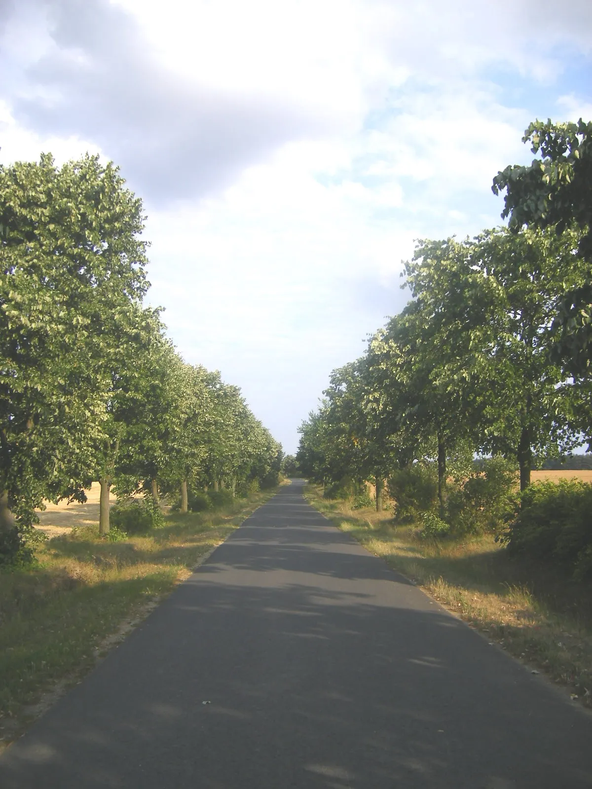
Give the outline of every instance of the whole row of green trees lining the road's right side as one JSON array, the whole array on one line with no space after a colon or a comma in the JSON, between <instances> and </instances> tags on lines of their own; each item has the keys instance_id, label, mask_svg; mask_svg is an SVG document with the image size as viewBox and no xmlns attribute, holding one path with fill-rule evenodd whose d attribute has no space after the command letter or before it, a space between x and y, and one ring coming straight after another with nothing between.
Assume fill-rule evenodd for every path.
<instances>
[{"instance_id":1,"label":"whole row of green trees lining the road's right side","mask_svg":"<svg viewBox=\"0 0 592 789\"><path fill-rule=\"evenodd\" d=\"M444 514L450 465L493 454L530 484L535 456L592 437L592 124L537 122L528 167L508 167L509 227L419 241L412 298L365 355L332 373L300 428L298 462L317 481L376 484L433 462Z\"/></svg>"}]
</instances>

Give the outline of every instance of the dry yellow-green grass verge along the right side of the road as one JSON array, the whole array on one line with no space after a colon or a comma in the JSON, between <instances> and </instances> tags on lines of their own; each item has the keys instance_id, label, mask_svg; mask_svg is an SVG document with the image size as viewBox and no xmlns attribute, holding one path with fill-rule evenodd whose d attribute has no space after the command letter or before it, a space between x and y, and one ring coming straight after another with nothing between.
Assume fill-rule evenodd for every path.
<instances>
[{"instance_id":1,"label":"dry yellow-green grass verge along the right side of the road","mask_svg":"<svg viewBox=\"0 0 592 789\"><path fill-rule=\"evenodd\" d=\"M515 559L489 535L425 540L392 512L351 510L316 485L305 497L489 641L592 707L592 584Z\"/></svg>"}]
</instances>

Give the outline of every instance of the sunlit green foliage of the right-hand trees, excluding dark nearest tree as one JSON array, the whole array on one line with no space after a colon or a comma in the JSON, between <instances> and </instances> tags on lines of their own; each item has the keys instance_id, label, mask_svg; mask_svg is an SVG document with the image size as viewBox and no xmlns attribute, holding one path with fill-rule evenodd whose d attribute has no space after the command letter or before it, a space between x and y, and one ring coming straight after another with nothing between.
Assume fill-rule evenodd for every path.
<instances>
[{"instance_id":1,"label":"sunlit green foliage of the right-hand trees, excluding dark nearest tree","mask_svg":"<svg viewBox=\"0 0 592 789\"><path fill-rule=\"evenodd\" d=\"M589 431L590 393L553 358L555 323L586 282L579 234L505 228L463 242L418 241L406 264L413 299L370 340L365 357L332 373L302 425L298 461L320 481L475 451L517 459L556 454ZM571 303L572 320L590 313ZM576 319L577 315L577 319Z\"/></svg>"}]
</instances>

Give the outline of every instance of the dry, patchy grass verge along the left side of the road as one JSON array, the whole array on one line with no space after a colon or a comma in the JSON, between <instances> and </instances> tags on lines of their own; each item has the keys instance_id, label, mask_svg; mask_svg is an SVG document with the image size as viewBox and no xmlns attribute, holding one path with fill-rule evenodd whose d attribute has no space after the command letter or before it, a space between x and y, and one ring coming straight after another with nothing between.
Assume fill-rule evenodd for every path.
<instances>
[{"instance_id":1,"label":"dry, patchy grass verge along the left side of the road","mask_svg":"<svg viewBox=\"0 0 592 789\"><path fill-rule=\"evenodd\" d=\"M0 573L0 749L275 491L168 515L121 542L100 538L98 525L73 529L40 544L32 567Z\"/></svg>"}]
</instances>

